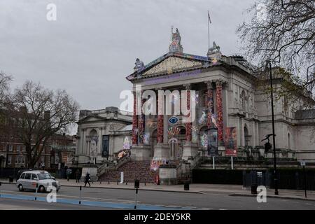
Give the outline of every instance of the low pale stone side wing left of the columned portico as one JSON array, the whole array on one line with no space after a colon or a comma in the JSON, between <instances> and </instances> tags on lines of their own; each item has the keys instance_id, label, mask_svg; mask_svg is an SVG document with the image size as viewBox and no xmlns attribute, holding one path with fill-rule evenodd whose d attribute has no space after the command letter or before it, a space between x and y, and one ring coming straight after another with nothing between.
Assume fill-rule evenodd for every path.
<instances>
[{"instance_id":1,"label":"low pale stone side wing left of the columned portico","mask_svg":"<svg viewBox=\"0 0 315 224\"><path fill-rule=\"evenodd\" d=\"M100 165L131 145L132 116L117 107L80 111L75 164Z\"/></svg>"}]
</instances>

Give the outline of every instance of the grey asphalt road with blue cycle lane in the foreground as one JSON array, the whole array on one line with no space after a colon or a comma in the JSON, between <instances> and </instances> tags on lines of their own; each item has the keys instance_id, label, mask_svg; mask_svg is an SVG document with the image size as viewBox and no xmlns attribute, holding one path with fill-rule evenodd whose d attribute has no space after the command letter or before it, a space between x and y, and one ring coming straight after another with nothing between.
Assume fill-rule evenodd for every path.
<instances>
[{"instance_id":1,"label":"grey asphalt road with blue cycle lane in the foreground","mask_svg":"<svg viewBox=\"0 0 315 224\"><path fill-rule=\"evenodd\" d=\"M12 184L0 186L0 209L134 209L135 191L106 188L82 188L81 205L78 204L80 191L78 187L62 186L57 193L58 203L45 202L47 194L32 191L19 192ZM3 197L6 197L3 199ZM15 203L16 202L16 203ZM315 209L315 201L267 198L266 203L258 203L255 197L229 196L224 193L172 193L139 190L138 209L281 209L309 210ZM43 204L43 206L41 205ZM6 207L8 205L8 207ZM15 207L18 205L18 207ZM86 206L89 205L89 206Z\"/></svg>"}]
</instances>

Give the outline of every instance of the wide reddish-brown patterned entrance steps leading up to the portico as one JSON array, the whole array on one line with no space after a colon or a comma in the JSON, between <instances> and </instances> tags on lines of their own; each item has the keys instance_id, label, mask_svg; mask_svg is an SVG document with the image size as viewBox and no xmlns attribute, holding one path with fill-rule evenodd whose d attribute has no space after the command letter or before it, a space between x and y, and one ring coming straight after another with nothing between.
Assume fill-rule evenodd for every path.
<instances>
[{"instance_id":1,"label":"wide reddish-brown patterned entrance steps leading up to the portico","mask_svg":"<svg viewBox=\"0 0 315 224\"><path fill-rule=\"evenodd\" d=\"M141 183L154 183L157 172L150 170L151 160L127 161L118 169L109 169L99 176L99 181L120 181L120 173L124 172L124 182L133 183L139 179Z\"/></svg>"}]
</instances>

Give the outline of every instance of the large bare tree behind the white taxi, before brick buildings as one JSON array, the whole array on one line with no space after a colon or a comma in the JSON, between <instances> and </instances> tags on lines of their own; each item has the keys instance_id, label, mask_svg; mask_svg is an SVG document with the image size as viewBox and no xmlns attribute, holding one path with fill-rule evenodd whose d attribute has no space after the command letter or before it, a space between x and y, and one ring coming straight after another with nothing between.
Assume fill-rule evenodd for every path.
<instances>
[{"instance_id":1,"label":"large bare tree behind the white taxi, before brick buildings","mask_svg":"<svg viewBox=\"0 0 315 224\"><path fill-rule=\"evenodd\" d=\"M12 96L10 116L17 128L18 139L25 144L28 167L41 158L52 135L66 132L76 122L78 103L65 90L48 90L29 80Z\"/></svg>"}]
</instances>

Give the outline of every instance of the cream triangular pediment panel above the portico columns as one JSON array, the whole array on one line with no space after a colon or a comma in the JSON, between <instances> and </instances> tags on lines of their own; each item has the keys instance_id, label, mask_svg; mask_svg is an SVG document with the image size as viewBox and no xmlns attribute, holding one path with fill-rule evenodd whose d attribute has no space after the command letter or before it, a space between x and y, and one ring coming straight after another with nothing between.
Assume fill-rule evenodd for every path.
<instances>
[{"instance_id":1,"label":"cream triangular pediment panel above the portico columns","mask_svg":"<svg viewBox=\"0 0 315 224\"><path fill-rule=\"evenodd\" d=\"M181 57L167 57L159 64L145 71L142 76L150 76L155 73L172 73L176 70L191 69L202 66L202 62Z\"/></svg>"}]
</instances>

